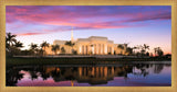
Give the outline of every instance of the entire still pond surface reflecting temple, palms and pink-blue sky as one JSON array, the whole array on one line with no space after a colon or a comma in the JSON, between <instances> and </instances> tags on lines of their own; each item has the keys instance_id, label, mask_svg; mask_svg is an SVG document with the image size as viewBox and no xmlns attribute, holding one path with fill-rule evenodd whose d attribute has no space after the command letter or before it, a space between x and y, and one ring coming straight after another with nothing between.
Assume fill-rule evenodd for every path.
<instances>
[{"instance_id":1,"label":"entire still pond surface reflecting temple, palms and pink-blue sky","mask_svg":"<svg viewBox=\"0 0 177 92\"><path fill-rule=\"evenodd\" d=\"M132 64L103 66L18 66L7 69L7 85L156 85L148 80L166 77L166 81L157 85L170 85L170 64ZM139 77L146 78L143 82ZM136 79L136 80L135 80ZM126 82L116 81L129 80ZM38 84L35 84L38 81ZM45 82L44 82L45 81ZM53 81L53 82L52 82ZM133 83L132 81L136 81ZM41 83L40 83L41 82ZM108 83L110 82L110 83ZM29 84L30 83L30 84ZM45 84L44 84L45 83ZM64 84L62 84L64 83ZM112 83L112 84L111 84Z\"/></svg>"}]
</instances>

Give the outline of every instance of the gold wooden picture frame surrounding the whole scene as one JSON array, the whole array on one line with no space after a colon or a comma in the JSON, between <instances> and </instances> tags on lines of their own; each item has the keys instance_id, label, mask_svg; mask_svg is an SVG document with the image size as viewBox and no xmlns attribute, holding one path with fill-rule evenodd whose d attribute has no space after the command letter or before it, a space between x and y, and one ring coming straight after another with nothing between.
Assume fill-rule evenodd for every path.
<instances>
[{"instance_id":1,"label":"gold wooden picture frame surrounding the whole scene","mask_svg":"<svg viewBox=\"0 0 177 92\"><path fill-rule=\"evenodd\" d=\"M6 87L6 5L171 5L171 87ZM177 0L1 0L0 92L177 92Z\"/></svg>"}]
</instances>

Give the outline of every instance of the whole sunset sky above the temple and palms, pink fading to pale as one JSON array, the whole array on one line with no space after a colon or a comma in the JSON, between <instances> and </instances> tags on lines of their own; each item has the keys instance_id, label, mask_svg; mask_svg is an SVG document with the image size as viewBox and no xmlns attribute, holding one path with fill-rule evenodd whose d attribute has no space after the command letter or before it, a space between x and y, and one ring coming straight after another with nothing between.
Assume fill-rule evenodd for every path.
<instances>
[{"instance_id":1,"label":"whole sunset sky above the temple and palms, pink fading to pale","mask_svg":"<svg viewBox=\"0 0 177 92\"><path fill-rule=\"evenodd\" d=\"M7 32L29 44L54 39L106 36L131 47L147 44L149 51L162 47L171 53L171 8L169 5L8 5Z\"/></svg>"}]
</instances>

